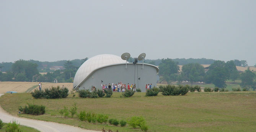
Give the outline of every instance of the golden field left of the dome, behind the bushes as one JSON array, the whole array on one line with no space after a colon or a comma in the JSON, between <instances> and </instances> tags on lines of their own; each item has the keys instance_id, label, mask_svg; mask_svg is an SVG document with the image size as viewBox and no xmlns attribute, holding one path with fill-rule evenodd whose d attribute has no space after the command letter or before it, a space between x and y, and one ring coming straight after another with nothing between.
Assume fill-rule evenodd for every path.
<instances>
[{"instance_id":1,"label":"golden field left of the dome, behind the bushes","mask_svg":"<svg viewBox=\"0 0 256 132\"><path fill-rule=\"evenodd\" d=\"M18 93L31 92L34 89L38 88L39 82L0 82L0 93L5 93L7 91L15 91ZM42 82L42 89L50 87L62 87L64 85L69 90L73 89L73 83L50 83Z\"/></svg>"}]
</instances>

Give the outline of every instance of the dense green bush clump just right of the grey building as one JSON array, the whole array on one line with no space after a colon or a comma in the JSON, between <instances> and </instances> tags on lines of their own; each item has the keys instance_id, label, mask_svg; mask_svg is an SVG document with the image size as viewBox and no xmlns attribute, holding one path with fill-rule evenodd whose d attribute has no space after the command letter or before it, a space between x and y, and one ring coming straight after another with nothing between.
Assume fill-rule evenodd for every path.
<instances>
[{"instance_id":1,"label":"dense green bush clump just right of the grey building","mask_svg":"<svg viewBox=\"0 0 256 132\"><path fill-rule=\"evenodd\" d=\"M166 85L166 86L159 86L160 92L162 95L186 95L188 93L188 87L182 85Z\"/></svg>"}]
</instances>

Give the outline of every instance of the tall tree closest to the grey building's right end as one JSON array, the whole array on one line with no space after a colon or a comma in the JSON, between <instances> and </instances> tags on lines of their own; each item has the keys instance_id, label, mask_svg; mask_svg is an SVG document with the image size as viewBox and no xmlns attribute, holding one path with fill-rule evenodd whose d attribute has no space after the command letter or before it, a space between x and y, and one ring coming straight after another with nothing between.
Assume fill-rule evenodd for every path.
<instances>
[{"instance_id":1,"label":"tall tree closest to the grey building's right end","mask_svg":"<svg viewBox=\"0 0 256 132\"><path fill-rule=\"evenodd\" d=\"M179 71L178 62L175 62L169 58L162 59L161 64L159 64L159 74L164 77L164 79L169 82L169 80L174 80L174 74Z\"/></svg>"}]
</instances>

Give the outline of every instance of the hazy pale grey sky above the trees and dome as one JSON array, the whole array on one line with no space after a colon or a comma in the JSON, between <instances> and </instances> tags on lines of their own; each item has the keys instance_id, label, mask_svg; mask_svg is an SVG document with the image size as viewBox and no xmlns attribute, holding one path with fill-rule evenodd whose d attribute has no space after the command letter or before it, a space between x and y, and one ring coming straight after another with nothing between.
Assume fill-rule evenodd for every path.
<instances>
[{"instance_id":1,"label":"hazy pale grey sky above the trees and dome","mask_svg":"<svg viewBox=\"0 0 256 132\"><path fill-rule=\"evenodd\" d=\"M256 0L0 0L0 49L0 62L144 52L254 65Z\"/></svg>"}]
</instances>

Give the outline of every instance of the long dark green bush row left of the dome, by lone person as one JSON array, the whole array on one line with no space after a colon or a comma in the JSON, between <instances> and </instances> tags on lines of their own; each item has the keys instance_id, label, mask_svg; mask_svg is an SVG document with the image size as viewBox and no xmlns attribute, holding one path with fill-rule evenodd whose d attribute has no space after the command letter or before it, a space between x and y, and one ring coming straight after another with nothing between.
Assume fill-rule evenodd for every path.
<instances>
[{"instance_id":1,"label":"long dark green bush row left of the dome, by lone person","mask_svg":"<svg viewBox=\"0 0 256 132\"><path fill-rule=\"evenodd\" d=\"M57 87L51 87L50 89L34 90L31 92L34 98L66 98L68 96L68 89Z\"/></svg>"}]
</instances>

